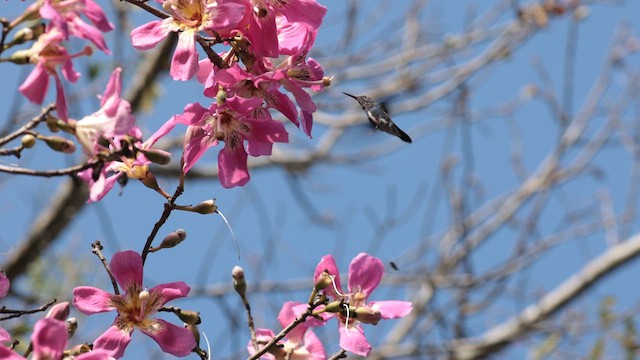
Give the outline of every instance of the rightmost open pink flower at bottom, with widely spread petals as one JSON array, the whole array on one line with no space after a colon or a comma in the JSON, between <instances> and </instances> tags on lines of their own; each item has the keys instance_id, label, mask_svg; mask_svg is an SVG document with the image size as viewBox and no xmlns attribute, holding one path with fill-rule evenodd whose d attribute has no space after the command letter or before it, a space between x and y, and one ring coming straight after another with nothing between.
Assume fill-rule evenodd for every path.
<instances>
[{"instance_id":1,"label":"rightmost open pink flower at bottom, with widely spread petals","mask_svg":"<svg viewBox=\"0 0 640 360\"><path fill-rule=\"evenodd\" d=\"M371 345L364 336L360 323L376 325L380 319L403 317L411 312L413 305L408 301L395 300L367 303L367 299L380 284L384 273L382 261L373 256L360 253L351 261L348 293L342 290L340 272L331 255L324 256L316 267L314 276L316 282L325 270L333 277L337 291L334 285L327 286L323 291L335 300L343 300L350 309L349 312L345 309L336 315L339 319L340 347L360 356L368 356Z\"/></svg>"}]
</instances>

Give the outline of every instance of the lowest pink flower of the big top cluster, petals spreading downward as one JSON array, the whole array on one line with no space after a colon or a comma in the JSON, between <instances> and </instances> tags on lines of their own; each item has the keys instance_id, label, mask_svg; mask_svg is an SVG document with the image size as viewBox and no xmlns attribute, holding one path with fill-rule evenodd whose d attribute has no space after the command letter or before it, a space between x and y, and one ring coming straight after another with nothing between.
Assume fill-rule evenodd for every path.
<instances>
[{"instance_id":1,"label":"lowest pink flower of the big top cluster, petals spreading downward","mask_svg":"<svg viewBox=\"0 0 640 360\"><path fill-rule=\"evenodd\" d=\"M189 169L212 146L224 141L218 153L220 183L225 188L245 185L249 181L247 154L271 155L274 142L288 142L284 125L260 107L260 99L228 98L206 109L198 103L188 104L182 115L169 119L152 137L159 138L176 124L189 125L185 135L184 171ZM247 141L245 149L244 142Z\"/></svg>"}]
</instances>

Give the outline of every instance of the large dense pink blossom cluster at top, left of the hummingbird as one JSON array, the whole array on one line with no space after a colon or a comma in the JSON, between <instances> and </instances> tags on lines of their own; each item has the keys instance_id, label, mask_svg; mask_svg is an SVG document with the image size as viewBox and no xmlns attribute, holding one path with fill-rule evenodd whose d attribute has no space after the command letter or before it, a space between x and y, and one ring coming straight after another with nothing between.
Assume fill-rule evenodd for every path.
<instances>
[{"instance_id":1,"label":"large dense pink blossom cluster at top, left of the hummingbird","mask_svg":"<svg viewBox=\"0 0 640 360\"><path fill-rule=\"evenodd\" d=\"M316 107L305 88L329 85L320 65L307 54L326 8L315 0L165 0L166 18L131 32L133 46L154 47L171 32L178 45L171 62L175 80L194 76L212 102L186 105L154 135L162 137L177 124L187 125L183 171L221 141L220 183L225 188L249 181L247 157L271 155L273 144L288 142L284 125L272 118L279 111L311 136ZM198 60L196 42L208 57ZM228 45L213 52L210 45ZM294 101L287 96L292 94ZM297 107L296 107L297 104Z\"/></svg>"}]
</instances>

